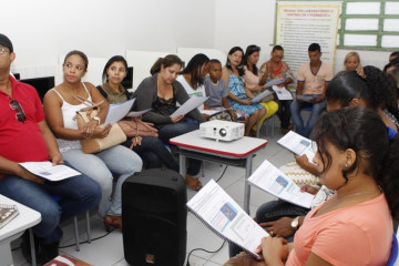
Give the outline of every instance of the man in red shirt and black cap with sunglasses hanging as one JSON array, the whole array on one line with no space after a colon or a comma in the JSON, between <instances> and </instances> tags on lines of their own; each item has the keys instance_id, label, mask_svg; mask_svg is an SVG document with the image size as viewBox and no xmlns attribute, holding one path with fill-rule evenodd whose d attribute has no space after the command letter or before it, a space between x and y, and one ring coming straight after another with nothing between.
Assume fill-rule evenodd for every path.
<instances>
[{"instance_id":1,"label":"man in red shirt and black cap with sunglasses hanging","mask_svg":"<svg viewBox=\"0 0 399 266\"><path fill-rule=\"evenodd\" d=\"M18 164L64 162L45 123L35 89L10 75L14 59L10 39L0 33L0 194L41 214L42 219L33 227L33 234L38 263L44 264L58 256L62 237L60 223L94 207L101 190L85 175L44 182ZM22 239L22 254L30 260L27 236L24 234Z\"/></svg>"}]
</instances>

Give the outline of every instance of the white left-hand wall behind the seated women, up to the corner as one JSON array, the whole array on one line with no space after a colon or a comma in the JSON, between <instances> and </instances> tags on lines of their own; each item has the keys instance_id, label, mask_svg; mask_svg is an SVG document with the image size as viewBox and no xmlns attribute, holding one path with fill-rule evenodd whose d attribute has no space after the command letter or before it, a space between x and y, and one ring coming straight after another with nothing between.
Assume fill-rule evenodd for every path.
<instances>
[{"instance_id":1,"label":"white left-hand wall behind the seated women, up to the corner","mask_svg":"<svg viewBox=\"0 0 399 266\"><path fill-rule=\"evenodd\" d=\"M12 69L30 78L57 72L59 55L73 49L110 58L126 50L213 48L213 0L2 1L0 32L14 44Z\"/></svg>"}]
</instances>

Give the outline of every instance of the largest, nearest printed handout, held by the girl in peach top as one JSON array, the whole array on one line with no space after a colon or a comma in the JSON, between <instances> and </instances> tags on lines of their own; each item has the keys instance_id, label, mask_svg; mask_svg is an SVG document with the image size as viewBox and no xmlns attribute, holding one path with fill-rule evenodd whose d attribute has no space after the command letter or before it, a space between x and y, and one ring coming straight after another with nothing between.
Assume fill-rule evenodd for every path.
<instances>
[{"instance_id":1,"label":"largest, nearest printed handout, held by the girl in peach top","mask_svg":"<svg viewBox=\"0 0 399 266\"><path fill-rule=\"evenodd\" d=\"M211 180L187 203L200 219L223 238L243 247L253 256L262 238L268 236L244 209L214 181Z\"/></svg>"}]
</instances>

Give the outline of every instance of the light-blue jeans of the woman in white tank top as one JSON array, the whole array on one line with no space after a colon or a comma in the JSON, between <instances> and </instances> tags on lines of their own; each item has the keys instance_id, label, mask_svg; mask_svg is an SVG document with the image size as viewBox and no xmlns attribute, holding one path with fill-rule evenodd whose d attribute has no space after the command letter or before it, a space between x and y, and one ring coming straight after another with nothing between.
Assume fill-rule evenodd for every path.
<instances>
[{"instance_id":1,"label":"light-blue jeans of the woman in white tank top","mask_svg":"<svg viewBox=\"0 0 399 266\"><path fill-rule=\"evenodd\" d=\"M142 170L143 162L130 149L116 145L95 154L85 154L82 150L69 150L62 156L79 172L96 181L102 191L99 215L122 214L122 184L135 172ZM112 195L113 174L119 174L115 191Z\"/></svg>"}]
</instances>

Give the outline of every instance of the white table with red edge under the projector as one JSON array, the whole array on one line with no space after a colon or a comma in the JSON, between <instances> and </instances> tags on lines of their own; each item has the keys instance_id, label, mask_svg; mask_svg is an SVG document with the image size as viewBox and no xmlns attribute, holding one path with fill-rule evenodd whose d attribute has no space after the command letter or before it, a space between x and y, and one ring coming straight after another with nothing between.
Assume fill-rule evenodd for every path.
<instances>
[{"instance_id":1,"label":"white table with red edge under the projector","mask_svg":"<svg viewBox=\"0 0 399 266\"><path fill-rule=\"evenodd\" d=\"M244 211L249 214L250 186L248 177L252 174L253 156L256 151L266 146L263 139L243 136L239 140L224 142L202 137L200 130L175 136L170 143L180 149L180 173L185 176L185 158L197 158L218 162L245 168Z\"/></svg>"}]
</instances>

